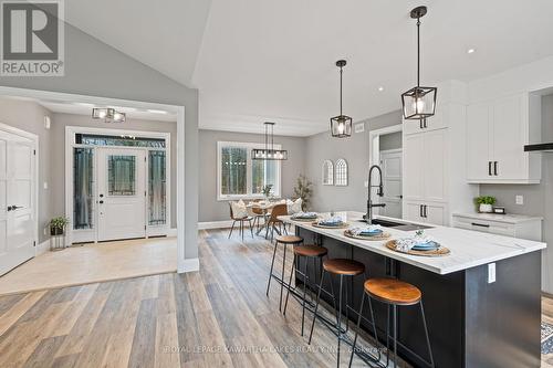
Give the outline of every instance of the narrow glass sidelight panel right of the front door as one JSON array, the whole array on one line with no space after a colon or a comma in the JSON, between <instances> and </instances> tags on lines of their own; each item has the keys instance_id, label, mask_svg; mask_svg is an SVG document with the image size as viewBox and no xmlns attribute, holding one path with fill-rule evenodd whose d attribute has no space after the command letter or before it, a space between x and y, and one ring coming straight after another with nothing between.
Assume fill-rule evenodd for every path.
<instances>
[{"instance_id":1,"label":"narrow glass sidelight panel right of the front door","mask_svg":"<svg viewBox=\"0 0 553 368\"><path fill-rule=\"evenodd\" d=\"M148 167L148 223L166 223L166 157L164 150L149 151Z\"/></svg>"}]
</instances>

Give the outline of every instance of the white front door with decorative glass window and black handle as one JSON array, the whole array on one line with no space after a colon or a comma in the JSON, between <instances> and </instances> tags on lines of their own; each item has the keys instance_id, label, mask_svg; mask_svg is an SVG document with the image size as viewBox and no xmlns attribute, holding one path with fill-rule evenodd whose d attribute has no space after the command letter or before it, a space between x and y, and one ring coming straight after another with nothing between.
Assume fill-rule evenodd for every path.
<instances>
[{"instance_id":1,"label":"white front door with decorative glass window and black handle","mask_svg":"<svg viewBox=\"0 0 553 368\"><path fill-rule=\"evenodd\" d=\"M97 153L98 241L146 236L146 151Z\"/></svg>"}]
</instances>

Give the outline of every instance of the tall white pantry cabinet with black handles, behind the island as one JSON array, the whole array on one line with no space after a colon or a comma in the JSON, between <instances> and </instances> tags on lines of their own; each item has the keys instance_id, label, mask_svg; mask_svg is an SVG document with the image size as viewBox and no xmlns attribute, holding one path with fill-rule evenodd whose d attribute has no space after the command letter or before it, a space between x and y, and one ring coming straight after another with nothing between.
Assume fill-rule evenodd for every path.
<instances>
[{"instance_id":1,"label":"tall white pantry cabinet with black handles, behind the island","mask_svg":"<svg viewBox=\"0 0 553 368\"><path fill-rule=\"evenodd\" d=\"M404 120L403 213L409 221L450 225L451 213L473 211L478 186L466 172L466 85L438 86L436 115Z\"/></svg>"}]
</instances>

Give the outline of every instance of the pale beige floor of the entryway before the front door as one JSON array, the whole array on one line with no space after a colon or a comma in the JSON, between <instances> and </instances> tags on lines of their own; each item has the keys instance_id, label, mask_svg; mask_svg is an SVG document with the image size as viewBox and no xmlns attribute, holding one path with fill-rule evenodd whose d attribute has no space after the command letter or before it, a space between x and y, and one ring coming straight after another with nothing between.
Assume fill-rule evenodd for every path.
<instances>
[{"instance_id":1,"label":"pale beige floor of the entryway before the front door","mask_svg":"<svg viewBox=\"0 0 553 368\"><path fill-rule=\"evenodd\" d=\"M177 271L177 239L104 242L46 252L0 277L0 295Z\"/></svg>"}]
</instances>

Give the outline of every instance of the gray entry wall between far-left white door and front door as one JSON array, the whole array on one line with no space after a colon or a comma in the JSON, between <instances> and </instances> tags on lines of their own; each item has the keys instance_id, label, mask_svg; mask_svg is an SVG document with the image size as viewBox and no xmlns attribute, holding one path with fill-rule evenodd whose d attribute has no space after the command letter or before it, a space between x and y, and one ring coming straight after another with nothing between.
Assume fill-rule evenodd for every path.
<instances>
[{"instance_id":1,"label":"gray entry wall between far-left white door and front door","mask_svg":"<svg viewBox=\"0 0 553 368\"><path fill-rule=\"evenodd\" d=\"M39 136L39 182L36 183L39 186L39 242L48 239L44 235L44 229L54 213L52 211L54 187L52 186L52 165L50 165L51 130L44 128L45 115L51 116L52 113L34 102L0 97L0 123ZM61 169L63 170L63 166ZM44 182L48 183L48 189L44 189Z\"/></svg>"}]
</instances>

